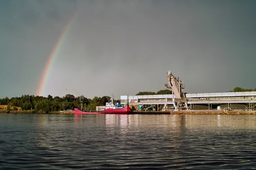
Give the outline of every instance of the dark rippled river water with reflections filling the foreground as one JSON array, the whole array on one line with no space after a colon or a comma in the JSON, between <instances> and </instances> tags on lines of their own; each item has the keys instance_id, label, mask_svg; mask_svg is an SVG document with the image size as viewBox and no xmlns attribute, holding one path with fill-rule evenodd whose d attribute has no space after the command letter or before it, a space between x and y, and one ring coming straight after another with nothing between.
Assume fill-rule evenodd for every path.
<instances>
[{"instance_id":1,"label":"dark rippled river water with reflections filling the foreground","mask_svg":"<svg viewBox=\"0 0 256 170\"><path fill-rule=\"evenodd\" d=\"M0 113L0 170L252 169L255 115Z\"/></svg>"}]
</instances>

